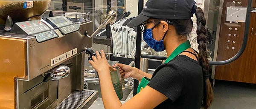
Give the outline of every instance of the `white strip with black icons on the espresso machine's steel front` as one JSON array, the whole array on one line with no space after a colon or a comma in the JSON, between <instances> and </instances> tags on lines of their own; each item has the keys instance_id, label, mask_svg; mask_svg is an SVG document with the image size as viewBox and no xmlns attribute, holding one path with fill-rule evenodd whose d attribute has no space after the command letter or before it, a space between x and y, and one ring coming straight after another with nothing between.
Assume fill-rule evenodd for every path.
<instances>
[{"instance_id":1,"label":"white strip with black icons on the espresso machine's steel front","mask_svg":"<svg viewBox=\"0 0 256 109\"><path fill-rule=\"evenodd\" d=\"M77 48L70 50L64 54L61 54L57 57L54 57L51 59L51 66L54 66L55 64L60 63L63 60L66 60L67 58L72 57L75 54L77 54Z\"/></svg>"}]
</instances>

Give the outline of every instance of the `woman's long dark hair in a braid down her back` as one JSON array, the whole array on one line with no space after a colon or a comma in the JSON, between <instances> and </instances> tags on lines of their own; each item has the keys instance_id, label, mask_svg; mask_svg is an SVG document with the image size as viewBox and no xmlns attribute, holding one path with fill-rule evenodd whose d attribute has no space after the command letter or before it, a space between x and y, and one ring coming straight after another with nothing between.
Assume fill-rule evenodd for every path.
<instances>
[{"instance_id":1,"label":"woman's long dark hair in a braid down her back","mask_svg":"<svg viewBox=\"0 0 256 109\"><path fill-rule=\"evenodd\" d=\"M204 17L204 12L201 8L197 7L195 11L195 16L197 17L197 26L198 29L196 31L198 37L197 37L197 43L198 43L198 57L199 57L199 63L202 66L203 69L203 75L204 75L204 100L202 106L204 106L204 109L207 109L213 99L213 91L212 86L209 81L209 62L207 60L207 31L205 29L206 20ZM159 22L159 19L153 19L154 23ZM187 39L189 34L192 31L193 28L193 21L192 19L187 20L168 20L173 23L173 26L176 29L176 33L180 40Z\"/></svg>"}]
</instances>

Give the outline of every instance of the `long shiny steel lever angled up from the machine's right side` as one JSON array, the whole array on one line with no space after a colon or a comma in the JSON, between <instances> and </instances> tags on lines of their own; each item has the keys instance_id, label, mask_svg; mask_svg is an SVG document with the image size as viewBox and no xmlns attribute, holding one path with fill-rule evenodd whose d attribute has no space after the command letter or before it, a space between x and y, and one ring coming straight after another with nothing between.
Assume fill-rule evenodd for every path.
<instances>
[{"instance_id":1,"label":"long shiny steel lever angled up from the machine's right side","mask_svg":"<svg viewBox=\"0 0 256 109\"><path fill-rule=\"evenodd\" d=\"M107 18L103 21L103 23L99 26L99 28L95 32L93 32L93 34L88 35L88 31L85 31L84 35L86 35L89 38L93 37L100 29L102 29L108 23L111 23L115 18L116 18L115 11L108 12Z\"/></svg>"}]
</instances>

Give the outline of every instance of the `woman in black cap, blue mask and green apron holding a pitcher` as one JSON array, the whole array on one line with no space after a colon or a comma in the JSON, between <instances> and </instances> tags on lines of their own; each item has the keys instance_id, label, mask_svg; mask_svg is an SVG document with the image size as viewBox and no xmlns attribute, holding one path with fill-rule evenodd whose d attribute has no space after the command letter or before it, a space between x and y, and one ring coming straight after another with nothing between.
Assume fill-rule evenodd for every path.
<instances>
[{"instance_id":1,"label":"woman in black cap, blue mask and green apron holding a pitcher","mask_svg":"<svg viewBox=\"0 0 256 109\"><path fill-rule=\"evenodd\" d=\"M197 17L199 53L191 47L191 17ZM194 0L148 0L143 11L128 23L141 26L145 42L155 51L166 50L169 56L153 75L123 64L119 66L125 78L140 80L138 94L122 104L112 85L110 69L104 52L96 52L92 64L99 73L103 104L106 109L207 109L212 103L209 66L206 53L206 20Z\"/></svg>"}]
</instances>

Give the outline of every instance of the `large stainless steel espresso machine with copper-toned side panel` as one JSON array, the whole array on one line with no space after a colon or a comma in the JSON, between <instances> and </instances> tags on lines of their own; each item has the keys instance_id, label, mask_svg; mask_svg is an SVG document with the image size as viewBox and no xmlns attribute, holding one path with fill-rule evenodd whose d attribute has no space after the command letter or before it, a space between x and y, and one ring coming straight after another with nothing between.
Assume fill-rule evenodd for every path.
<instances>
[{"instance_id":1,"label":"large stainless steel espresso machine with copper-toned side panel","mask_svg":"<svg viewBox=\"0 0 256 109\"><path fill-rule=\"evenodd\" d=\"M97 98L84 90L84 51L116 13L93 32L81 16L40 17L50 1L0 1L0 109L86 109Z\"/></svg>"}]
</instances>

